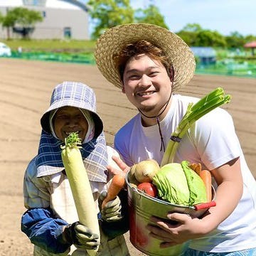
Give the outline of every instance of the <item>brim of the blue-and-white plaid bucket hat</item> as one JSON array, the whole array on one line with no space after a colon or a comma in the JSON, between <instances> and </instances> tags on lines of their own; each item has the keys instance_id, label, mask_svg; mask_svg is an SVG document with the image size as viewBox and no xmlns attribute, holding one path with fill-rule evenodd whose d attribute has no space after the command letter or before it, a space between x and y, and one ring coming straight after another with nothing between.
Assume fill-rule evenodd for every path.
<instances>
[{"instance_id":1,"label":"brim of the blue-and-white plaid bucket hat","mask_svg":"<svg viewBox=\"0 0 256 256\"><path fill-rule=\"evenodd\" d=\"M61 105L60 105L60 103L61 103ZM66 106L78 107L80 109L89 111L92 114L93 121L95 122L94 138L97 138L102 133L102 131L103 131L102 119L96 112L94 112L92 110L92 107L87 102L83 102L80 100L60 100L60 101L56 101L52 105L50 105L48 110L46 110L46 112L41 117L41 127L43 128L44 131L48 132L49 134L51 133L50 132L50 122L49 122L50 112L52 110L57 110L60 107L66 107Z\"/></svg>"}]
</instances>

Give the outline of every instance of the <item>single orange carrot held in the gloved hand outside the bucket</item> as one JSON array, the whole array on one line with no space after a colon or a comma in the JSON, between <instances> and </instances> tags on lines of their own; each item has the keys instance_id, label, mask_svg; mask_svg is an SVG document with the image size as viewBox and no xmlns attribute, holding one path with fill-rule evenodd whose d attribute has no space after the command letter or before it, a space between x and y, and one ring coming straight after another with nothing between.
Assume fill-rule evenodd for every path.
<instances>
[{"instance_id":1,"label":"single orange carrot held in the gloved hand outside the bucket","mask_svg":"<svg viewBox=\"0 0 256 256\"><path fill-rule=\"evenodd\" d=\"M124 185L124 176L122 176L121 174L115 174L110 183L110 187L107 190L107 196L102 202L102 209L105 207L105 204L107 202L112 201L118 195Z\"/></svg>"}]
</instances>

